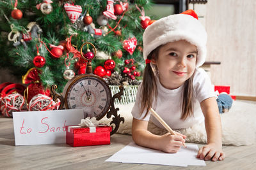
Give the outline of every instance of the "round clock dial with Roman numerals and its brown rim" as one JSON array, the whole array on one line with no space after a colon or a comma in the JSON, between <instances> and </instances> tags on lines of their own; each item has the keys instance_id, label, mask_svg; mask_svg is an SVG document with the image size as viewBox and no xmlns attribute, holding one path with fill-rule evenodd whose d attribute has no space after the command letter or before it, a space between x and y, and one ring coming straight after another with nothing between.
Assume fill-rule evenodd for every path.
<instances>
[{"instance_id":1,"label":"round clock dial with Roman numerals and its brown rim","mask_svg":"<svg viewBox=\"0 0 256 170\"><path fill-rule=\"evenodd\" d=\"M111 104L111 90L99 76L81 75L75 78L65 94L65 106L69 109L83 108L84 117L104 117Z\"/></svg>"}]
</instances>

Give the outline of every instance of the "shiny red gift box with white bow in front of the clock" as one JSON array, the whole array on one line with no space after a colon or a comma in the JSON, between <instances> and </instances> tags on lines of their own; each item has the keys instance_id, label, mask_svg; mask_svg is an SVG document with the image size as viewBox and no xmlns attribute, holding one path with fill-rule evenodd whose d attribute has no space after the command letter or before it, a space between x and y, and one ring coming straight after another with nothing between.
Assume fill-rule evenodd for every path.
<instances>
[{"instance_id":1,"label":"shiny red gift box with white bow in front of the clock","mask_svg":"<svg viewBox=\"0 0 256 170\"><path fill-rule=\"evenodd\" d=\"M109 145L112 127L66 126L66 143L70 146Z\"/></svg>"}]
</instances>

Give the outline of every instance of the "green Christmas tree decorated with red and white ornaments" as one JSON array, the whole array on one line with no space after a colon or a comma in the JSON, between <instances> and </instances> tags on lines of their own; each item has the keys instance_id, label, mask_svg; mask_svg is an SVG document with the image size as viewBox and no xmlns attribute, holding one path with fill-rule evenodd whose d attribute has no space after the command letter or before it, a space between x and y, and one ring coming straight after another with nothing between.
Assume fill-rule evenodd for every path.
<instances>
[{"instance_id":1,"label":"green Christmas tree decorated with red and white ornaments","mask_svg":"<svg viewBox=\"0 0 256 170\"><path fill-rule=\"evenodd\" d=\"M90 42L97 48L95 74L109 85L138 84L145 66L142 35L152 22L144 10L151 5L150 0L1 0L1 67L23 76L23 83L36 81L38 89L58 85L61 92L70 78L84 73L80 48ZM87 57L95 53L90 45L82 50Z\"/></svg>"}]
</instances>

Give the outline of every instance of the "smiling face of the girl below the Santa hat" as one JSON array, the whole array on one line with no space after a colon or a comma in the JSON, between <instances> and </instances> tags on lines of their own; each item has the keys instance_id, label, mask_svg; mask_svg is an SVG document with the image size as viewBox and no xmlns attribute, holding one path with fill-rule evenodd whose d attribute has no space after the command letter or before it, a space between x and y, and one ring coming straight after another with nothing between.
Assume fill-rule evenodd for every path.
<instances>
[{"instance_id":1,"label":"smiling face of the girl below the Santa hat","mask_svg":"<svg viewBox=\"0 0 256 170\"><path fill-rule=\"evenodd\" d=\"M158 57L152 57L159 71L160 83L166 89L177 89L188 80L196 67L196 46L179 40L159 48Z\"/></svg>"}]
</instances>

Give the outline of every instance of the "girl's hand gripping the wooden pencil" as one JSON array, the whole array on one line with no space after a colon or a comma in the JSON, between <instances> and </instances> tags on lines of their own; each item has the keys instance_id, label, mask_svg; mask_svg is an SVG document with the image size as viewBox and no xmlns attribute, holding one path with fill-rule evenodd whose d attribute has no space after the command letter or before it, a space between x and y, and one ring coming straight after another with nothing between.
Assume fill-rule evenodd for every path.
<instances>
[{"instance_id":1,"label":"girl's hand gripping the wooden pencil","mask_svg":"<svg viewBox=\"0 0 256 170\"><path fill-rule=\"evenodd\" d=\"M161 141L159 143L160 148L163 152L167 153L176 153L180 150L180 146L182 146L182 143L185 142L186 136L182 134L175 134L171 135L170 133L166 133L163 136L161 136Z\"/></svg>"}]
</instances>

